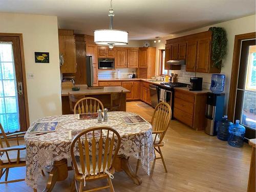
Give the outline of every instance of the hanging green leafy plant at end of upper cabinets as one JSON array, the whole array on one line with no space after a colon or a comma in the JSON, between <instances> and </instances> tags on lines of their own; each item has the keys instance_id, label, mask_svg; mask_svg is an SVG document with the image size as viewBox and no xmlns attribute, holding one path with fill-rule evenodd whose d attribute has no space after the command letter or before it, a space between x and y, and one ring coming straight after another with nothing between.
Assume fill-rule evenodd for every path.
<instances>
[{"instance_id":1,"label":"hanging green leafy plant at end of upper cabinets","mask_svg":"<svg viewBox=\"0 0 256 192\"><path fill-rule=\"evenodd\" d=\"M221 27L210 27L212 32L211 59L214 66L221 69L222 59L226 56L227 35Z\"/></svg>"}]
</instances>

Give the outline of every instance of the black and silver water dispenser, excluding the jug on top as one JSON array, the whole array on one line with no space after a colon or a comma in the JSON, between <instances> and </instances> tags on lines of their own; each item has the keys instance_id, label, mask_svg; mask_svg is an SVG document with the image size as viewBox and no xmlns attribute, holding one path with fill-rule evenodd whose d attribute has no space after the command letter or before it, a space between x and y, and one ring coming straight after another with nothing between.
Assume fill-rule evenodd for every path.
<instances>
[{"instance_id":1,"label":"black and silver water dispenser, excluding the jug on top","mask_svg":"<svg viewBox=\"0 0 256 192\"><path fill-rule=\"evenodd\" d=\"M208 93L206 102L205 117L207 126L205 133L208 135L217 135L217 122L222 120L224 112L224 93Z\"/></svg>"}]
</instances>

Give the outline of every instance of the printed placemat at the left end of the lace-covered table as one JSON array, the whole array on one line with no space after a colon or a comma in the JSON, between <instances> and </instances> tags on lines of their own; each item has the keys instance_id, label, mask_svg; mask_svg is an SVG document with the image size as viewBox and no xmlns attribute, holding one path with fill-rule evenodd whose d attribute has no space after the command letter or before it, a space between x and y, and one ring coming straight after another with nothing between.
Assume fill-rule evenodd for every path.
<instances>
[{"instance_id":1,"label":"printed placemat at the left end of the lace-covered table","mask_svg":"<svg viewBox=\"0 0 256 192\"><path fill-rule=\"evenodd\" d=\"M55 132L58 126L57 121L53 122L38 122L32 127L29 133L45 133L45 132Z\"/></svg>"}]
</instances>

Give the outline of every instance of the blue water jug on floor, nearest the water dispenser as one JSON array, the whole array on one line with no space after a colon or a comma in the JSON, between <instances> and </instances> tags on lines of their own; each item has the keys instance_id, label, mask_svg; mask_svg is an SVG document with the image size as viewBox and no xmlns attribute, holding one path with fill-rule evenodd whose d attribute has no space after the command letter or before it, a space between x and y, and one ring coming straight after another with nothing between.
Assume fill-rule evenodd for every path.
<instances>
[{"instance_id":1,"label":"blue water jug on floor, nearest the water dispenser","mask_svg":"<svg viewBox=\"0 0 256 192\"><path fill-rule=\"evenodd\" d=\"M217 138L223 141L227 141L229 137L228 127L232 123L227 119L227 115L224 115L221 121L217 123Z\"/></svg>"}]
</instances>

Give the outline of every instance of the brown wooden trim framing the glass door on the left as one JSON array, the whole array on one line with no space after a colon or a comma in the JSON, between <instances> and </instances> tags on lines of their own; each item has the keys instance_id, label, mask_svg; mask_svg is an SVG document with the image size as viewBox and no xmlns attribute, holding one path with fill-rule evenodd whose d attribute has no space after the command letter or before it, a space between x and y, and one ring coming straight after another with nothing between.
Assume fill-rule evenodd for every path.
<instances>
[{"instance_id":1,"label":"brown wooden trim framing the glass door on the left","mask_svg":"<svg viewBox=\"0 0 256 192\"><path fill-rule=\"evenodd\" d=\"M0 33L0 36L11 36L11 37L19 38L20 57L22 62L23 89L25 90L24 98L25 98L25 111L26 111L26 122L27 122L26 130L22 129L25 127L21 127L20 131L27 131L30 123L29 123L29 105L28 105L28 90L27 90L26 70L25 70L25 57L24 57L24 47L23 47L23 34L22 33Z\"/></svg>"}]
</instances>

